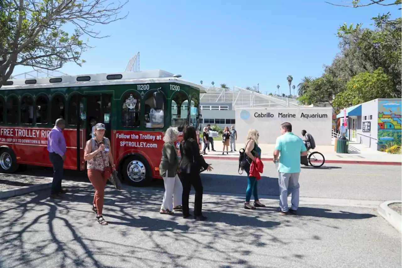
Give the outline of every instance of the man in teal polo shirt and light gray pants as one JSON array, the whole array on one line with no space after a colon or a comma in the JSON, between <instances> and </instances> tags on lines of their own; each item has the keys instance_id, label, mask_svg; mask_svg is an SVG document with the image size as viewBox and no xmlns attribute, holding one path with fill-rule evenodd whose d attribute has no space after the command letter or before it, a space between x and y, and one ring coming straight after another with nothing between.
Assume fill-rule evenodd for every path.
<instances>
[{"instance_id":1,"label":"man in teal polo shirt and light gray pants","mask_svg":"<svg viewBox=\"0 0 402 268\"><path fill-rule=\"evenodd\" d=\"M283 123L281 134L276 141L274 162L279 154L279 212L282 215L296 214L299 207L300 157L307 155L306 146L301 138L292 133L292 125ZM287 206L287 189L292 194L291 208Z\"/></svg>"}]
</instances>

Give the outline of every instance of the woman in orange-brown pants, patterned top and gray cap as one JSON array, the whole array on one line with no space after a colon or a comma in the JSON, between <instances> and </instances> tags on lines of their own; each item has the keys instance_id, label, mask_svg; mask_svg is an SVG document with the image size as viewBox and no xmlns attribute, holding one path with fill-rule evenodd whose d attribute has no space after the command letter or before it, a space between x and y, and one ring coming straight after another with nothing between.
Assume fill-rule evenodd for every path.
<instances>
[{"instance_id":1,"label":"woman in orange-brown pants, patterned top and gray cap","mask_svg":"<svg viewBox=\"0 0 402 268\"><path fill-rule=\"evenodd\" d=\"M107 221L103 219L103 198L105 196L105 186L107 177L104 176L105 169L113 165L113 155L110 150L110 141L105 138L105 125L98 123L95 125L95 138L86 142L84 150L84 160L88 161L86 169L88 178L95 188L95 196L92 210L96 213L96 220L101 225L107 225Z\"/></svg>"}]
</instances>

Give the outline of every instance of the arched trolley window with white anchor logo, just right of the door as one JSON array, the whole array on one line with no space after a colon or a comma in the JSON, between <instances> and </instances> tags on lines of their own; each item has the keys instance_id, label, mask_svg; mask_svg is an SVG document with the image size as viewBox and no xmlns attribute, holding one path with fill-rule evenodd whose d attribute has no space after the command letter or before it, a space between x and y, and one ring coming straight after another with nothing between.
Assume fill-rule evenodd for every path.
<instances>
[{"instance_id":1,"label":"arched trolley window with white anchor logo, just right of the door","mask_svg":"<svg viewBox=\"0 0 402 268\"><path fill-rule=\"evenodd\" d=\"M136 92L129 92L123 96L121 112L121 126L138 128L140 125L141 99Z\"/></svg>"}]
</instances>

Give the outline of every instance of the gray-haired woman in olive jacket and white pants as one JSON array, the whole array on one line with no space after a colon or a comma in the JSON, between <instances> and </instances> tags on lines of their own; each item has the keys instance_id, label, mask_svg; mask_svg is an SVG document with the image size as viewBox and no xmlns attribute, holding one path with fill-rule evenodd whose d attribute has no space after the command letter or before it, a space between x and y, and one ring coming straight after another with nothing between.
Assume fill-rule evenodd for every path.
<instances>
[{"instance_id":1,"label":"gray-haired woman in olive jacket and white pants","mask_svg":"<svg viewBox=\"0 0 402 268\"><path fill-rule=\"evenodd\" d=\"M183 186L177 175L178 157L174 142L178 138L177 128L168 128L163 140L162 159L159 165L159 174L163 178L165 194L163 196L160 214L173 214L174 210L183 209L182 194ZM173 207L174 205L174 207Z\"/></svg>"}]
</instances>

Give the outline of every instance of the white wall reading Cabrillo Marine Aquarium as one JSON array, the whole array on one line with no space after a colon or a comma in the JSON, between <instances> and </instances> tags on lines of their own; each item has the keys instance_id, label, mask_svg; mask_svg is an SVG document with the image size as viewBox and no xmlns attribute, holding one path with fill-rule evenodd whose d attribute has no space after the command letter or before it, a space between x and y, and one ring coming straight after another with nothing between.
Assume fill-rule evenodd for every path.
<instances>
[{"instance_id":1,"label":"white wall reading Cabrillo Marine Aquarium","mask_svg":"<svg viewBox=\"0 0 402 268\"><path fill-rule=\"evenodd\" d=\"M275 144L284 122L291 123L292 132L299 137L301 130L306 130L313 135L316 145L331 145L331 107L236 109L236 130L240 142L246 138L248 130L254 128L260 133L260 143Z\"/></svg>"}]
</instances>

